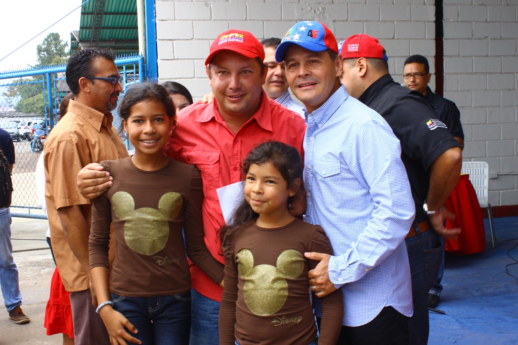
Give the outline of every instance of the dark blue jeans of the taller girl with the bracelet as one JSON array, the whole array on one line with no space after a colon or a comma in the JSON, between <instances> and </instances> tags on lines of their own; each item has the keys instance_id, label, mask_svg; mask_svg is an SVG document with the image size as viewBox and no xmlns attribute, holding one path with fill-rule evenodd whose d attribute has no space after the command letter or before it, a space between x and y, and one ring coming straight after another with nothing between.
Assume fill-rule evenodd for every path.
<instances>
[{"instance_id":1,"label":"dark blue jeans of the taller girl with the bracelet","mask_svg":"<svg viewBox=\"0 0 518 345\"><path fill-rule=\"evenodd\" d=\"M157 297L111 294L113 308L138 330L142 344L187 345L191 329L191 293Z\"/></svg>"}]
</instances>

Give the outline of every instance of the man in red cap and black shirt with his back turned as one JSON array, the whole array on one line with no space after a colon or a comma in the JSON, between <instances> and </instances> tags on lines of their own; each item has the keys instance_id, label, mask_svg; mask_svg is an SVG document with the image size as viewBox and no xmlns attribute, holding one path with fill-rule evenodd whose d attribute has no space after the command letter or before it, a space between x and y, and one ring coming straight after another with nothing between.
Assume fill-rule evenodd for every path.
<instances>
[{"instance_id":1,"label":"man in red cap and black shirt with his back turned","mask_svg":"<svg viewBox=\"0 0 518 345\"><path fill-rule=\"evenodd\" d=\"M342 83L347 92L380 113L401 143L401 159L415 204L415 220L406 236L414 306L410 343L426 344L428 290L437 279L441 260L439 234L455 237L460 231L445 229L444 220L452 214L443 205L458 181L461 145L422 94L392 79L376 38L353 35L344 41L341 53Z\"/></svg>"}]
</instances>

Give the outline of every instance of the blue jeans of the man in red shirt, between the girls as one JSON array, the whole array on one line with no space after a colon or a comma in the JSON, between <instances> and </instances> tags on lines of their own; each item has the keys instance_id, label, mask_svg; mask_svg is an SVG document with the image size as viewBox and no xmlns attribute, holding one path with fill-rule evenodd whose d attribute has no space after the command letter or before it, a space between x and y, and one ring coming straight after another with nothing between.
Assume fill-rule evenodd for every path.
<instances>
[{"instance_id":1,"label":"blue jeans of the man in red shirt, between the girls","mask_svg":"<svg viewBox=\"0 0 518 345\"><path fill-rule=\"evenodd\" d=\"M219 345L220 303L191 289L192 325L190 345Z\"/></svg>"}]
</instances>

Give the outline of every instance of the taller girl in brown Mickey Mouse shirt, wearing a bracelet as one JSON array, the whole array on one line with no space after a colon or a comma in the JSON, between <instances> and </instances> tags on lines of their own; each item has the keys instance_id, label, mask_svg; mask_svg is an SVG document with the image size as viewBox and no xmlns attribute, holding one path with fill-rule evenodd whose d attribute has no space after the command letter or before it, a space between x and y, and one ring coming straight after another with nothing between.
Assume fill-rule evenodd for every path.
<instances>
[{"instance_id":1,"label":"taller girl in brown Mickey Mouse shirt, wearing a bracelet","mask_svg":"<svg viewBox=\"0 0 518 345\"><path fill-rule=\"evenodd\" d=\"M113 186L92 208L89 254L97 312L112 344L186 345L191 276L185 251L215 282L223 280L221 264L204 242L202 177L195 166L162 152L175 125L164 87L133 86L119 113L135 154L101 162ZM111 226L116 245L109 266Z\"/></svg>"}]
</instances>

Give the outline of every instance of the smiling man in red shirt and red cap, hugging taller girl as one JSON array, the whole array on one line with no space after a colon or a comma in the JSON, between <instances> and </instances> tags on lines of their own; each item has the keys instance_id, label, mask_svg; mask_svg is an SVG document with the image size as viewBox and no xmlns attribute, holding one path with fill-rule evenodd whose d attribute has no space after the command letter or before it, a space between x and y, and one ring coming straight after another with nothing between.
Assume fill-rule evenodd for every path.
<instances>
[{"instance_id":1,"label":"smiling man in red shirt and red cap, hugging taller girl","mask_svg":"<svg viewBox=\"0 0 518 345\"><path fill-rule=\"evenodd\" d=\"M251 33L237 29L221 33L205 61L214 101L182 110L165 150L170 157L195 164L202 172L205 243L221 262L221 277L224 259L218 231L224 220L216 190L241 181L240 163L257 144L281 141L303 154L304 120L266 96L263 84L268 67L264 57L263 46ZM111 182L105 172L89 169L95 168L85 167L78 175L78 185L83 196L92 198ZM223 289L194 265L191 277L191 345L219 344L218 314Z\"/></svg>"}]
</instances>

